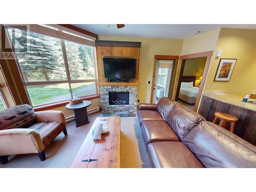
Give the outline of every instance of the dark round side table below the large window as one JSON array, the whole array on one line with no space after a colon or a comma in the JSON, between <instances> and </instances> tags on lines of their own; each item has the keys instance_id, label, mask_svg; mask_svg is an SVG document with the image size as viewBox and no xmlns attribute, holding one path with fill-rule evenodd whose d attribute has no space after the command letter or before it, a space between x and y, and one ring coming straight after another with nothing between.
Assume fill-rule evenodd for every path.
<instances>
[{"instance_id":1,"label":"dark round side table below the large window","mask_svg":"<svg viewBox=\"0 0 256 192\"><path fill-rule=\"evenodd\" d=\"M76 120L76 127L90 123L88 121L87 115L87 107L92 104L91 101L82 101L81 103L77 104L67 104L66 108L69 110L74 110L75 113L75 120Z\"/></svg>"}]
</instances>

